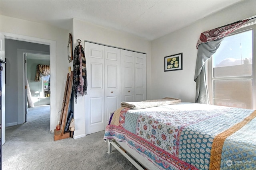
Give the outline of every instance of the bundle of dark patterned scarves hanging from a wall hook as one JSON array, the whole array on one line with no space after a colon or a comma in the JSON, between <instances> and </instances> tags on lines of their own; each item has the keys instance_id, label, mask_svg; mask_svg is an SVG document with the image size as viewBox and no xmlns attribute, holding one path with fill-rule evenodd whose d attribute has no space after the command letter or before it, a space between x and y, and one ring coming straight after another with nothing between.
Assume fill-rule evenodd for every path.
<instances>
[{"instance_id":1,"label":"bundle of dark patterned scarves hanging from a wall hook","mask_svg":"<svg viewBox=\"0 0 256 170\"><path fill-rule=\"evenodd\" d=\"M87 72L86 72L86 59L84 56L84 48L82 45L76 46L74 50L74 77L73 77L73 90L75 103L77 101L77 93L84 96L87 94Z\"/></svg>"}]
</instances>

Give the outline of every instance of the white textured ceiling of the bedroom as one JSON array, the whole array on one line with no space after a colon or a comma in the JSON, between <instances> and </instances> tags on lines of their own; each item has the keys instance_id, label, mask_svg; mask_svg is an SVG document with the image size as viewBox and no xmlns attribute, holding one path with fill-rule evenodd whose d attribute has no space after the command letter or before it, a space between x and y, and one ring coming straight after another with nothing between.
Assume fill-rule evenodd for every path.
<instances>
[{"instance_id":1,"label":"white textured ceiling of the bedroom","mask_svg":"<svg viewBox=\"0 0 256 170\"><path fill-rule=\"evenodd\" d=\"M1 15L70 29L82 21L153 40L241 0L0 0Z\"/></svg>"}]
</instances>

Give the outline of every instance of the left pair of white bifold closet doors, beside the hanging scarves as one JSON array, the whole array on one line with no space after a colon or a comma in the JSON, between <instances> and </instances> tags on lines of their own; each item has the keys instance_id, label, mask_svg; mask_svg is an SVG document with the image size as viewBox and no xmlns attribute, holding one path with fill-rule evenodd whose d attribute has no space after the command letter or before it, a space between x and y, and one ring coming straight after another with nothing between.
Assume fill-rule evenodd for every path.
<instances>
[{"instance_id":1,"label":"left pair of white bifold closet doors, beside the hanging scarves","mask_svg":"<svg viewBox=\"0 0 256 170\"><path fill-rule=\"evenodd\" d=\"M85 43L88 95L85 96L86 135L103 131L121 103L121 49Z\"/></svg>"}]
</instances>

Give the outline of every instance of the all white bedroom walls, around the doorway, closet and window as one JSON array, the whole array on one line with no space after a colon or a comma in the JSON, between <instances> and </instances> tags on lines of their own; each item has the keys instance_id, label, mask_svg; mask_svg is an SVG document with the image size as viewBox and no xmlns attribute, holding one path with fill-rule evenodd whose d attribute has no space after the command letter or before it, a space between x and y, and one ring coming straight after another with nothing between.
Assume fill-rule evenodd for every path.
<instances>
[{"instance_id":1,"label":"all white bedroom walls, around the doorway, closet and window","mask_svg":"<svg viewBox=\"0 0 256 170\"><path fill-rule=\"evenodd\" d=\"M37 37L56 41L56 110L51 118L53 125L59 119L64 95L68 66L72 62L67 60L68 33L72 32L73 47L78 45L77 39L111 45L124 49L140 51L147 54L147 99L157 99L166 96L180 98L182 101L194 102L196 83L194 69L196 63L196 42L200 33L234 21L256 15L256 1L242 1L225 11L208 16L194 24L165 35L154 41L147 41L137 36L107 29L80 20L73 20L73 27L69 30L59 29L50 25L1 17L1 32ZM183 70L164 72L164 57L183 53ZM74 106L76 122L75 137L81 137L84 129L84 97L78 95L78 104ZM51 130L53 131L51 128Z\"/></svg>"}]
</instances>

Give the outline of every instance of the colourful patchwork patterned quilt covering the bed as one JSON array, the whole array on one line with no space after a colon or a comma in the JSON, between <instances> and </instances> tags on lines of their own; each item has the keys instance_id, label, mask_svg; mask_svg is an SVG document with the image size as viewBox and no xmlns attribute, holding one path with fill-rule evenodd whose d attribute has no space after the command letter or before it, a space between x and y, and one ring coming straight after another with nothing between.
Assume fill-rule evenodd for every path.
<instances>
[{"instance_id":1,"label":"colourful patchwork patterned quilt covering the bed","mask_svg":"<svg viewBox=\"0 0 256 170\"><path fill-rule=\"evenodd\" d=\"M256 111L182 102L116 110L104 139L128 144L159 169L256 169Z\"/></svg>"}]
</instances>

